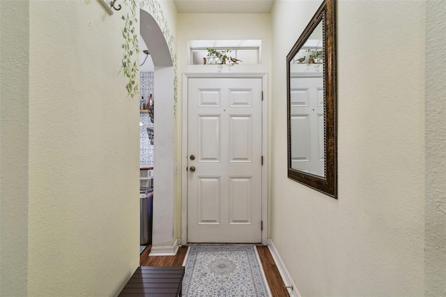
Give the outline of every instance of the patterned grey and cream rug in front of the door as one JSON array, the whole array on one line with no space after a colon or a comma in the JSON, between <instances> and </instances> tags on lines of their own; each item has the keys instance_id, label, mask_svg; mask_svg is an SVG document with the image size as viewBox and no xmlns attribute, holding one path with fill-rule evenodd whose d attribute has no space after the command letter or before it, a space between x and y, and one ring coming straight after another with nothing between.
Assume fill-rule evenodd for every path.
<instances>
[{"instance_id":1,"label":"patterned grey and cream rug in front of the door","mask_svg":"<svg viewBox=\"0 0 446 297\"><path fill-rule=\"evenodd\" d=\"M271 296L255 246L191 246L183 296Z\"/></svg>"}]
</instances>

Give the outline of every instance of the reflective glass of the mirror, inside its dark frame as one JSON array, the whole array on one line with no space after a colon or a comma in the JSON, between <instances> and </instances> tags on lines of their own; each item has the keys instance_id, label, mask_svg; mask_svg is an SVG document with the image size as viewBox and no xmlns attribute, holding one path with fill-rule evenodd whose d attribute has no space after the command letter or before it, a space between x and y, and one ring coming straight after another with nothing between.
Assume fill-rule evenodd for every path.
<instances>
[{"instance_id":1,"label":"reflective glass of the mirror, inside its dark frame","mask_svg":"<svg viewBox=\"0 0 446 297\"><path fill-rule=\"evenodd\" d=\"M290 62L291 168L325 176L322 22Z\"/></svg>"}]
</instances>

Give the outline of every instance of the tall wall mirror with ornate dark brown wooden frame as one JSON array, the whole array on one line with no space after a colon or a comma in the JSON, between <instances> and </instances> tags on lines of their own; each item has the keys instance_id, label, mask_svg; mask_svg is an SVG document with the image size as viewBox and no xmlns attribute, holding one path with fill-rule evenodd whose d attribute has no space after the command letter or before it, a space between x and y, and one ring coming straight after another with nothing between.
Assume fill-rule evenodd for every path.
<instances>
[{"instance_id":1,"label":"tall wall mirror with ornate dark brown wooden frame","mask_svg":"<svg viewBox=\"0 0 446 297\"><path fill-rule=\"evenodd\" d=\"M286 56L288 177L337 199L335 0Z\"/></svg>"}]
</instances>

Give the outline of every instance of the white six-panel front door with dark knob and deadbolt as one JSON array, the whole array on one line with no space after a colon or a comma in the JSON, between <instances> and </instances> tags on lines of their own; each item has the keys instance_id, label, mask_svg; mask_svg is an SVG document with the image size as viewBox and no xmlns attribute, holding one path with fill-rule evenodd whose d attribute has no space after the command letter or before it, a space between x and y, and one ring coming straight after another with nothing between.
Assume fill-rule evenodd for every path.
<instances>
[{"instance_id":1,"label":"white six-panel front door with dark knob and deadbolt","mask_svg":"<svg viewBox=\"0 0 446 297\"><path fill-rule=\"evenodd\" d=\"M190 78L187 242L261 243L262 79Z\"/></svg>"}]
</instances>

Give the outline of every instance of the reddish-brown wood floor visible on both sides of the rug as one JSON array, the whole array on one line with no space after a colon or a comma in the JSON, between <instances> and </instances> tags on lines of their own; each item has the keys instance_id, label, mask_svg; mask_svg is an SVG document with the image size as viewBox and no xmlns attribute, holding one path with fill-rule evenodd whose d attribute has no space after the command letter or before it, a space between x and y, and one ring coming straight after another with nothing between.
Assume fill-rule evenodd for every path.
<instances>
[{"instance_id":1,"label":"reddish-brown wood floor visible on both sides of the rug","mask_svg":"<svg viewBox=\"0 0 446 297\"><path fill-rule=\"evenodd\" d=\"M271 294L273 297L289 296L288 291L284 288L284 282L280 277L277 266L272 259L270 250L266 246L257 246L259 257L262 262L263 271L265 271L266 280L270 285ZM150 245L141 253L139 258L140 266L181 266L186 256L187 247L183 246L178 249L175 256L156 256L149 257L151 252Z\"/></svg>"}]
</instances>

